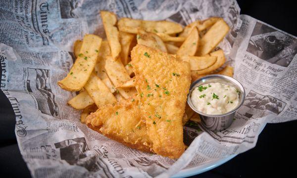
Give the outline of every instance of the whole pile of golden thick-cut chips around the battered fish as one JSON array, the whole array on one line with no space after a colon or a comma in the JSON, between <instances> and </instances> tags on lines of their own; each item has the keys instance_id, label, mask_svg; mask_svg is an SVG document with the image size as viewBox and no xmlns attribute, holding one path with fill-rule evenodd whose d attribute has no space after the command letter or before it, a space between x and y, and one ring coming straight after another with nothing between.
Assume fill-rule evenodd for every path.
<instances>
[{"instance_id":1,"label":"whole pile of golden thick-cut chips around the battered fish","mask_svg":"<svg viewBox=\"0 0 297 178\"><path fill-rule=\"evenodd\" d=\"M229 26L222 18L198 20L183 28L169 21L130 18L117 21L116 15L109 11L101 11L100 15L107 41L92 34L85 35L82 41L77 40L74 43L75 63L67 76L58 82L62 89L79 91L68 104L83 110L82 123L86 123L90 113L106 105L113 107L121 100L134 101L141 97L135 88L135 69L131 61L131 50L136 45L145 45L188 62L192 82L210 74L233 76L231 66L215 72L226 61L223 50L216 48L229 32ZM149 60L151 54L145 52L144 55ZM199 121L198 115L186 106L183 124L189 119Z\"/></svg>"}]
</instances>

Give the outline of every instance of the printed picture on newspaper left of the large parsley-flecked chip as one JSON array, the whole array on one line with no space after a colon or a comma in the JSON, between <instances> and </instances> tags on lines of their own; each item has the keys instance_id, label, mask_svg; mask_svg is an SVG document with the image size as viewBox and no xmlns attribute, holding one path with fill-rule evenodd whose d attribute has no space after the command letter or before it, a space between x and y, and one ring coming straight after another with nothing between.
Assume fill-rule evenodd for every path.
<instances>
[{"instance_id":1,"label":"printed picture on newspaper left of the large parsley-flecked chip","mask_svg":"<svg viewBox=\"0 0 297 178\"><path fill-rule=\"evenodd\" d=\"M35 97L38 109L53 117L58 116L58 105L49 85L48 69L28 69L27 90Z\"/></svg>"}]
</instances>

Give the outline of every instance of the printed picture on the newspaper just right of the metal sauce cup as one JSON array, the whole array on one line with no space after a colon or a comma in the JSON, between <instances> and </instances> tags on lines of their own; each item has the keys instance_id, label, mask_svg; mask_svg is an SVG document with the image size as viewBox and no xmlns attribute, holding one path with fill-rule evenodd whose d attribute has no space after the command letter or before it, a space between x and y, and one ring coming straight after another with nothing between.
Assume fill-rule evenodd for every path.
<instances>
[{"instance_id":1,"label":"printed picture on the newspaper just right of the metal sauce cup","mask_svg":"<svg viewBox=\"0 0 297 178\"><path fill-rule=\"evenodd\" d=\"M262 95L250 90L245 98L243 107L239 114L251 118L261 111L267 110L269 113L278 115L286 106L286 103L270 95Z\"/></svg>"}]
</instances>

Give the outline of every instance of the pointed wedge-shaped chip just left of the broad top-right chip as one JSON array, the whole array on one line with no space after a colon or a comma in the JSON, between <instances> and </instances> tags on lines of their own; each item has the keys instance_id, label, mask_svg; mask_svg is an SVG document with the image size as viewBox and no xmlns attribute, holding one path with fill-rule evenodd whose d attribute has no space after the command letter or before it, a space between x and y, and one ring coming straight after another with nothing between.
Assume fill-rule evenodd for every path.
<instances>
[{"instance_id":1,"label":"pointed wedge-shaped chip just left of the broad top-right chip","mask_svg":"<svg viewBox=\"0 0 297 178\"><path fill-rule=\"evenodd\" d=\"M194 56L198 49L199 35L196 27L193 28L190 35L187 37L183 45L180 46L177 55Z\"/></svg>"}]
</instances>

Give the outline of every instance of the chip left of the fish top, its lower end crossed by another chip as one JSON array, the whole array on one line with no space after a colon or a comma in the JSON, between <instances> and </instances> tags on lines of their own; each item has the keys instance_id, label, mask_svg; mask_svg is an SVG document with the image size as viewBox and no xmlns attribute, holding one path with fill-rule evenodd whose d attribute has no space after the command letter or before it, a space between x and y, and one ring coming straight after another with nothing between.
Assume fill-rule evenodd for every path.
<instances>
[{"instance_id":1,"label":"chip left of the fish top, its lower end crossed by another chip","mask_svg":"<svg viewBox=\"0 0 297 178\"><path fill-rule=\"evenodd\" d=\"M109 79L116 88L123 82L131 79L122 62L120 60L113 61L111 56L107 56L106 58L105 70ZM118 89L118 91L124 98L132 96L130 89Z\"/></svg>"}]
</instances>

